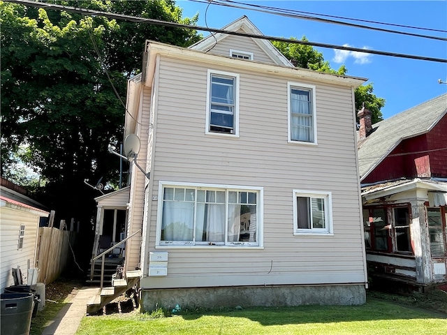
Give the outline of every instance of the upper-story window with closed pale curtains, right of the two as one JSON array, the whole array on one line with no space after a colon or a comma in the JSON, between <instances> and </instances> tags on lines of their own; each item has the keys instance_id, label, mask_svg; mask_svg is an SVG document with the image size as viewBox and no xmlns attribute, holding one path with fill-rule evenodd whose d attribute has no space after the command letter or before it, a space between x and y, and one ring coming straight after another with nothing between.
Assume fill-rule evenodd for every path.
<instances>
[{"instance_id":1,"label":"upper-story window with closed pale curtains, right of the two","mask_svg":"<svg viewBox=\"0 0 447 335\"><path fill-rule=\"evenodd\" d=\"M316 144L315 87L288 82L288 142Z\"/></svg>"}]
</instances>

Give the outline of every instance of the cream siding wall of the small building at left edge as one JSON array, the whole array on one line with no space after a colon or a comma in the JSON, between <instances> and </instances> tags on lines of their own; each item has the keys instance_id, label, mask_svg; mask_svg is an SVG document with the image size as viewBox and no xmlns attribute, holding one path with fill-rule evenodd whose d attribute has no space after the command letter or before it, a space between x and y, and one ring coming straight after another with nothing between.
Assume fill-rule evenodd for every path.
<instances>
[{"instance_id":1,"label":"cream siding wall of the small building at left edge","mask_svg":"<svg viewBox=\"0 0 447 335\"><path fill-rule=\"evenodd\" d=\"M45 214L42 214L45 216ZM39 215L29 212L28 209L20 210L20 207L0 207L0 291L14 285L12 268L17 265L22 270L24 284L27 284L28 260L34 267L36 258L36 239L38 234ZM25 225L23 246L18 249L20 225Z\"/></svg>"}]
</instances>

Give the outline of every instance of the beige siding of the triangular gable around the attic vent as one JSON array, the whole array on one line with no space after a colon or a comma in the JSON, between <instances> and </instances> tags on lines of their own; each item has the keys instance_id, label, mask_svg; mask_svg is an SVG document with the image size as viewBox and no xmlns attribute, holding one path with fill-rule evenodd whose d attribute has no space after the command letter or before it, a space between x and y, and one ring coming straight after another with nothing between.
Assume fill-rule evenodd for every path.
<instances>
[{"instance_id":1,"label":"beige siding of the triangular gable around the attic vent","mask_svg":"<svg viewBox=\"0 0 447 335\"><path fill-rule=\"evenodd\" d=\"M238 30L240 33L244 33L242 29ZM230 57L230 50L237 50L242 52L251 52L253 54L254 61L261 61L268 64L276 64L264 50L259 47L254 41L254 38L228 35L223 40L219 41L217 45L212 47L209 51L210 54L221 54L222 56Z\"/></svg>"}]
</instances>

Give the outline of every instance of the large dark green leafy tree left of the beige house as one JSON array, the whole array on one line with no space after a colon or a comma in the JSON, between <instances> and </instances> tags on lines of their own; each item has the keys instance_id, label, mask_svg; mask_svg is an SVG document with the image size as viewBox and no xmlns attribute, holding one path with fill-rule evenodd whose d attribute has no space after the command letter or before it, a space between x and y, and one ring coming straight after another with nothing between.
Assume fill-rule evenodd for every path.
<instances>
[{"instance_id":1,"label":"large dark green leafy tree left of the beige house","mask_svg":"<svg viewBox=\"0 0 447 335\"><path fill-rule=\"evenodd\" d=\"M170 0L54 2L185 24L198 19L183 19ZM57 194L50 204L82 207L91 191L84 179L119 176L108 144L122 137L126 80L141 68L145 40L186 46L200 36L1 1L0 10L1 173L26 146L26 163L47 180L46 194Z\"/></svg>"}]
</instances>

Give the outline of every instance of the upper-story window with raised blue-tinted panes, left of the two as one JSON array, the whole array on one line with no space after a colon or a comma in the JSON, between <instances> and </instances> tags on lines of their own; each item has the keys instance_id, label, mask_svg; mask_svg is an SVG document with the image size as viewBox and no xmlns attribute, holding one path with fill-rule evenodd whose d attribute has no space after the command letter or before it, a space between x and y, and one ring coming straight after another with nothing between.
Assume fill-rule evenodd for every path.
<instances>
[{"instance_id":1,"label":"upper-story window with raised blue-tinted panes, left of the two","mask_svg":"<svg viewBox=\"0 0 447 335\"><path fill-rule=\"evenodd\" d=\"M239 75L208 70L207 134L239 135Z\"/></svg>"}]
</instances>

